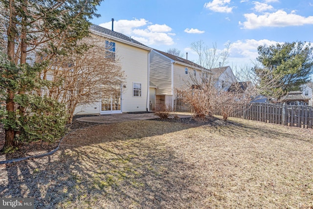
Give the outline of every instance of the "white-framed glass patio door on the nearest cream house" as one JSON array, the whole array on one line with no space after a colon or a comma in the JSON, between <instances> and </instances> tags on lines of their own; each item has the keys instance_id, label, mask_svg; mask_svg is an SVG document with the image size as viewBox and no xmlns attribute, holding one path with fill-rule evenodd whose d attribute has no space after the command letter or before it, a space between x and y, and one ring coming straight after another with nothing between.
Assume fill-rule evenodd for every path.
<instances>
[{"instance_id":1,"label":"white-framed glass patio door on the nearest cream house","mask_svg":"<svg viewBox=\"0 0 313 209\"><path fill-rule=\"evenodd\" d=\"M106 93L103 93L101 99L100 114L122 113L121 84L107 86L106 88Z\"/></svg>"}]
</instances>

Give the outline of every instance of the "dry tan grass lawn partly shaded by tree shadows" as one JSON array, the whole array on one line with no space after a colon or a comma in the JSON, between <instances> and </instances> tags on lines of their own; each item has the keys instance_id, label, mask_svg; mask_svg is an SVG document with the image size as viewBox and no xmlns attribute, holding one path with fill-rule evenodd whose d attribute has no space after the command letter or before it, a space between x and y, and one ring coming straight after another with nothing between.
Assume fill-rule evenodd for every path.
<instances>
[{"instance_id":1,"label":"dry tan grass lawn partly shaded by tree shadows","mask_svg":"<svg viewBox=\"0 0 313 209\"><path fill-rule=\"evenodd\" d=\"M132 121L70 134L57 154L0 165L0 197L36 208L313 208L313 130Z\"/></svg>"}]
</instances>

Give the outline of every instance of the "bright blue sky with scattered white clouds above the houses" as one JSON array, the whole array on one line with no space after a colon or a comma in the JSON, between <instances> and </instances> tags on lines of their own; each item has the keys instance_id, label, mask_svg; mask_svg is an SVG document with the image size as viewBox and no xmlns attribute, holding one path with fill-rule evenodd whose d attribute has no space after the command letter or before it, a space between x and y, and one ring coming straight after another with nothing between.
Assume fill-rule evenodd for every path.
<instances>
[{"instance_id":1,"label":"bright blue sky with scattered white clouds above the houses","mask_svg":"<svg viewBox=\"0 0 313 209\"><path fill-rule=\"evenodd\" d=\"M114 18L114 31L193 61L194 42L231 43L233 68L250 65L260 45L313 42L313 0L104 0L98 13L92 23L111 29Z\"/></svg>"}]
</instances>

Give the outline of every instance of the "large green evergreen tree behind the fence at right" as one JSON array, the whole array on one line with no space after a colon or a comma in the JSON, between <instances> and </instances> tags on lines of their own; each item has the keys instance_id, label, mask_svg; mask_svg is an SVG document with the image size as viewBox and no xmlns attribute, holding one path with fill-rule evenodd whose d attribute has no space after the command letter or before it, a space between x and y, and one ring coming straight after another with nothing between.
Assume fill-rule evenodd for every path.
<instances>
[{"instance_id":1,"label":"large green evergreen tree behind the fence at right","mask_svg":"<svg viewBox=\"0 0 313 209\"><path fill-rule=\"evenodd\" d=\"M267 94L280 97L289 91L299 90L302 84L307 83L313 72L312 52L311 43L306 42L259 46L257 60L264 68L256 68L256 74L269 70L272 75L282 75L281 87L272 88Z\"/></svg>"}]
</instances>

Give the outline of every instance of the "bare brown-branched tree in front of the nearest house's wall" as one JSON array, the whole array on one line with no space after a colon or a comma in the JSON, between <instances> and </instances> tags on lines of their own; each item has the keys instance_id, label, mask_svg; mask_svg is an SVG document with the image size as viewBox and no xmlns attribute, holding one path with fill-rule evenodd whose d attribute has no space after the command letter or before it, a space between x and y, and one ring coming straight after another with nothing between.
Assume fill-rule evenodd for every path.
<instances>
[{"instance_id":1,"label":"bare brown-branched tree in front of the nearest house's wall","mask_svg":"<svg viewBox=\"0 0 313 209\"><path fill-rule=\"evenodd\" d=\"M108 55L110 48L103 40L92 35L83 39L81 45L85 44L87 50L59 56L43 72L43 77L53 81L48 95L66 104L68 123L78 105L98 102L113 90L120 91L124 79L118 58Z\"/></svg>"}]
</instances>

